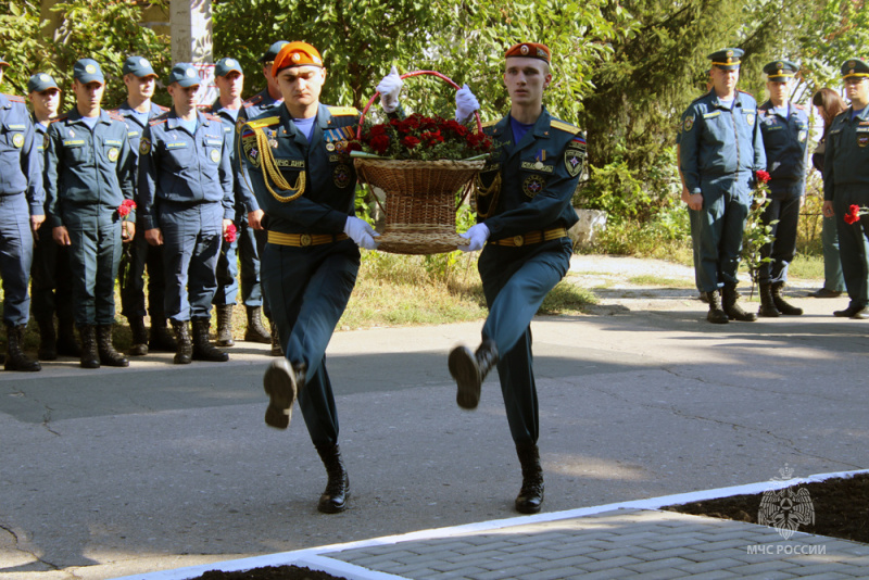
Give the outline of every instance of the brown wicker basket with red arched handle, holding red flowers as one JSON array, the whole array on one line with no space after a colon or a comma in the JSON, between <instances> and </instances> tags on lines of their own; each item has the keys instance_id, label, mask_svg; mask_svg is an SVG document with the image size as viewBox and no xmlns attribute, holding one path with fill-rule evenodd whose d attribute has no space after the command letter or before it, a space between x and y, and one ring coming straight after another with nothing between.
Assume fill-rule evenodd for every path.
<instances>
[{"instance_id":1,"label":"brown wicker basket with red arched handle, holding red flowers","mask_svg":"<svg viewBox=\"0 0 869 580\"><path fill-rule=\"evenodd\" d=\"M401 77L418 75L434 75L458 89L458 85L433 71L415 71ZM362 113L357 138L365 113L378 94L371 97ZM479 115L477 130L482 133ZM455 231L455 199L482 169L484 161L356 157L353 163L362 182L386 192L386 206L381 205L386 227L377 238L378 250L394 254L440 254L467 245L468 240Z\"/></svg>"}]
</instances>

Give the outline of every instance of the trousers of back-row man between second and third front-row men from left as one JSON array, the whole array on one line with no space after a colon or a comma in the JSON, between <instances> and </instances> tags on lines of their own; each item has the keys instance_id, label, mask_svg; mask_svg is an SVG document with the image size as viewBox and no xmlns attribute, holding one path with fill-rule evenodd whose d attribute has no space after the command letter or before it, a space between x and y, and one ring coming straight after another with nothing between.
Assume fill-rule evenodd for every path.
<instances>
[{"instance_id":1,"label":"trousers of back-row man between second and third front-row men from left","mask_svg":"<svg viewBox=\"0 0 869 580\"><path fill-rule=\"evenodd\" d=\"M166 276L163 247L144 239L144 228L137 225L136 237L128 244L129 269L122 273L121 314L127 318L144 317L144 268L148 267L148 306L151 318L165 318Z\"/></svg>"}]
</instances>

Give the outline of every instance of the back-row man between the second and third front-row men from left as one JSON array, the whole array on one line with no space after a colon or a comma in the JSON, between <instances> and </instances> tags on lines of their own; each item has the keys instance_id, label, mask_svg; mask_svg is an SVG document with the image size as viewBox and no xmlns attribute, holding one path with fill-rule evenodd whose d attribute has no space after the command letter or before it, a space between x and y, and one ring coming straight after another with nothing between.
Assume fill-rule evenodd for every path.
<instances>
[{"instance_id":1,"label":"back-row man between the second and third front-row men from left","mask_svg":"<svg viewBox=\"0 0 869 580\"><path fill-rule=\"evenodd\" d=\"M168 111L151 102L156 87L158 75L148 59L129 56L124 61L121 72L124 75L124 85L127 87L127 100L118 105L113 113L121 115L127 122L127 136L134 163L134 180L138 177L139 141L142 138L148 122ZM138 198L138 196L137 196ZM141 216L141 214L139 214ZM129 354L141 356L148 354L150 346L153 351L175 352L178 348L175 339L166 328L166 278L163 267L163 248L151 245L144 239L144 228L138 224L136 239L129 248L130 264L121 283L121 307L124 316L129 321L133 333L133 345ZM144 268L148 267L148 310L151 314L151 337L144 329Z\"/></svg>"}]
</instances>

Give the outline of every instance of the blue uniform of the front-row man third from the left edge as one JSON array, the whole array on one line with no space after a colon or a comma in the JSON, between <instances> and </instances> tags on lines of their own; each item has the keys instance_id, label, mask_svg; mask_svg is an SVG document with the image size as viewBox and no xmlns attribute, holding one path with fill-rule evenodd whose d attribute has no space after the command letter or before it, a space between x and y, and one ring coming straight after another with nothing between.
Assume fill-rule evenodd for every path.
<instances>
[{"instance_id":1,"label":"blue uniform of the front-row man third from the left edge","mask_svg":"<svg viewBox=\"0 0 869 580\"><path fill-rule=\"evenodd\" d=\"M210 318L223 220L235 217L231 138L219 117L197 112L193 134L174 110L151 121L139 146L139 199L146 229L163 232L166 315Z\"/></svg>"}]
</instances>

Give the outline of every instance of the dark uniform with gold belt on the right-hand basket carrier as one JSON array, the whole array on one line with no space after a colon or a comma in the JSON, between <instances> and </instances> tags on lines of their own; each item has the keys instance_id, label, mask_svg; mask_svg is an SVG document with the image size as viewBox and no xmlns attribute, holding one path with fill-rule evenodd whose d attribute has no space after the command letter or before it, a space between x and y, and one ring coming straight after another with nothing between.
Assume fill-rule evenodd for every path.
<instances>
[{"instance_id":1,"label":"dark uniform with gold belt on the right-hand basket carrier","mask_svg":"<svg viewBox=\"0 0 869 580\"><path fill-rule=\"evenodd\" d=\"M486 133L499 149L477 181L478 222L489 241L478 262L489 316L483 341L494 341L498 375L511 433L517 444L540 433L531 355L531 319L570 267L567 229L585 157L585 139L544 109L517 143L505 116Z\"/></svg>"}]
</instances>

